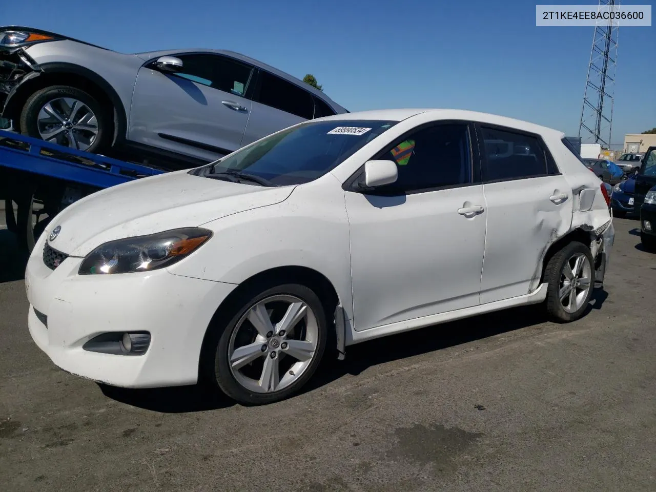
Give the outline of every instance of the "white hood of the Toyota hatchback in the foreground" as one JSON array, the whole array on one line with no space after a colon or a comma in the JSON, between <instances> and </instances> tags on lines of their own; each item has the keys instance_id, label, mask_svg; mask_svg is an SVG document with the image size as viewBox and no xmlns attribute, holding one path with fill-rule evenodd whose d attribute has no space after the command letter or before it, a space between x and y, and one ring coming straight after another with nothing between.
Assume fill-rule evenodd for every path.
<instances>
[{"instance_id":1,"label":"white hood of the Toyota hatchback in the foreground","mask_svg":"<svg viewBox=\"0 0 656 492\"><path fill-rule=\"evenodd\" d=\"M52 247L70 256L86 256L113 239L201 226L227 215L274 205L287 199L294 188L238 184L187 171L158 174L76 201L48 224L47 234L61 226Z\"/></svg>"}]
</instances>

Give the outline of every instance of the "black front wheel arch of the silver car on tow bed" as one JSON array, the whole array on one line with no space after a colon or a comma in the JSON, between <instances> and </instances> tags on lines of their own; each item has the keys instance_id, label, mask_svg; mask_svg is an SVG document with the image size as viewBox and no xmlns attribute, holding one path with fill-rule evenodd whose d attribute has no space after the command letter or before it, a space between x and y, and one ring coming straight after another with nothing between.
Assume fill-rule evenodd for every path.
<instances>
[{"instance_id":1,"label":"black front wheel arch of the silver car on tow bed","mask_svg":"<svg viewBox=\"0 0 656 492\"><path fill-rule=\"evenodd\" d=\"M81 91L89 92L98 98L101 104L112 106L114 127L112 145L123 140L127 131L127 113L121 98L108 81L89 68L72 63L52 62L41 64L39 68L41 72L32 72L31 76L28 75L7 97L3 110L6 118L18 121L23 106L34 92L49 85L70 85ZM71 75L75 75L75 77L71 77Z\"/></svg>"}]
</instances>

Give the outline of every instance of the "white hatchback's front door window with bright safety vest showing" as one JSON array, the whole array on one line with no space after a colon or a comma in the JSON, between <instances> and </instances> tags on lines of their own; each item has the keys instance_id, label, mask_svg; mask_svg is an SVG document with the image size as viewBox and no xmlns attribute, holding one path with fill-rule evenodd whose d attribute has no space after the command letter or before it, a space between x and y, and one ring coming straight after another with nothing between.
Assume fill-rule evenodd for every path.
<instances>
[{"instance_id":1,"label":"white hatchback's front door window with bright safety vest showing","mask_svg":"<svg viewBox=\"0 0 656 492\"><path fill-rule=\"evenodd\" d=\"M472 181L469 129L466 123L428 127L394 142L378 159L396 162L396 182L377 188L403 194L457 186Z\"/></svg>"}]
</instances>

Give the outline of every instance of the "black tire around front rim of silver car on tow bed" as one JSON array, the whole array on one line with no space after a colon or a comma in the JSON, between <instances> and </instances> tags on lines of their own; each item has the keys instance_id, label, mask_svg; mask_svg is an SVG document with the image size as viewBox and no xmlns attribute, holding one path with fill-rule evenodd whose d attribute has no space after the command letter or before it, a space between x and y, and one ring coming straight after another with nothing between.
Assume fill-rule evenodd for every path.
<instances>
[{"instance_id":1,"label":"black tire around front rim of silver car on tow bed","mask_svg":"<svg viewBox=\"0 0 656 492\"><path fill-rule=\"evenodd\" d=\"M39 140L45 140L39 131L39 113L41 113L41 109L44 108L48 103L52 103L62 98L77 100L86 106L89 112L95 116L94 123L97 125L97 131L94 138L89 137L92 132L89 133L89 131L76 129L73 127L73 133L77 133L79 136L84 138L80 138L77 147L71 144L68 144L68 146L95 154L106 150L106 148L111 145L113 136L113 108L100 104L100 102L98 102L98 100L88 92L68 85L51 85L50 87L45 87L44 89L35 92L28 98L25 105L23 106L22 112L20 113L21 133L33 138L39 138ZM61 116L66 118L66 115L60 114L60 117ZM71 123L76 122L75 118L72 118L72 120L73 121L71 121ZM82 134L80 134L80 132ZM66 138L66 140L68 140L68 132L63 131L62 133L64 134L63 136ZM87 146L88 142L91 142L91 144Z\"/></svg>"}]
</instances>

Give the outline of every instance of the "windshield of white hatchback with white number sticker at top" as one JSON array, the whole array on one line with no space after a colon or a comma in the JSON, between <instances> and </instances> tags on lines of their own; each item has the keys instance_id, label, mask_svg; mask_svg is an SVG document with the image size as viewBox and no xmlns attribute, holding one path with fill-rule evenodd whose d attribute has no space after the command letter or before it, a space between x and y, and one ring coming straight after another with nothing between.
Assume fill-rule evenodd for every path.
<instances>
[{"instance_id":1,"label":"windshield of white hatchback with white number sticker at top","mask_svg":"<svg viewBox=\"0 0 656 492\"><path fill-rule=\"evenodd\" d=\"M255 176L269 186L302 184L328 173L396 121L310 121L265 137L258 144L219 159L205 176ZM252 184L252 183L249 183Z\"/></svg>"}]
</instances>

